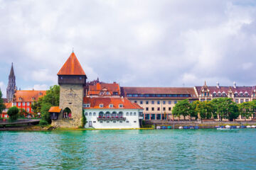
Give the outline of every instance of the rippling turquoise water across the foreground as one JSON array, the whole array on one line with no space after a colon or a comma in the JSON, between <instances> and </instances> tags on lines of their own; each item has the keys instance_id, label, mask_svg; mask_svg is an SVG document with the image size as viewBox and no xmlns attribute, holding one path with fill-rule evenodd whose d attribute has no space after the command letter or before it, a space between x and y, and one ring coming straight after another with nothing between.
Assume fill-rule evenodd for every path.
<instances>
[{"instance_id":1,"label":"rippling turquoise water across the foreground","mask_svg":"<svg viewBox=\"0 0 256 170\"><path fill-rule=\"evenodd\" d=\"M0 132L0 169L256 169L256 129Z\"/></svg>"}]
</instances>

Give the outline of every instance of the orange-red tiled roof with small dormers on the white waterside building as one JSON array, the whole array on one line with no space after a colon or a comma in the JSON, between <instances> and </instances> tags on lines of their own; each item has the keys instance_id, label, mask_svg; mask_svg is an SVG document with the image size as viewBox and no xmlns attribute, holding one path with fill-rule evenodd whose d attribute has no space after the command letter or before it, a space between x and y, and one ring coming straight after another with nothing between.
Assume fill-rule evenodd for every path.
<instances>
[{"instance_id":1,"label":"orange-red tiled roof with small dormers on the white waterside building","mask_svg":"<svg viewBox=\"0 0 256 170\"><path fill-rule=\"evenodd\" d=\"M110 104L112 104L113 108L110 109L117 109L119 108L119 104L122 104L124 109L143 109L137 103L132 103L127 98L85 97L83 103L90 103L90 108L100 108L100 104L103 104L103 108L110 108Z\"/></svg>"}]
</instances>

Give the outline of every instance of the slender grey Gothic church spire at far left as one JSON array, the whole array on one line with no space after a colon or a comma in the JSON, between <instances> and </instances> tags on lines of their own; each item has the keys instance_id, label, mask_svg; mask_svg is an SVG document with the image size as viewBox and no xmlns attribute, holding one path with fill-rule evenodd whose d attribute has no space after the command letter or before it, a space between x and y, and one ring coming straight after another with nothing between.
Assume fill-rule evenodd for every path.
<instances>
[{"instance_id":1,"label":"slender grey Gothic church spire at far left","mask_svg":"<svg viewBox=\"0 0 256 170\"><path fill-rule=\"evenodd\" d=\"M8 102L11 102L14 98L14 93L16 91L16 82L14 75L14 64L11 63L11 72L9 74L8 86L6 88L6 98Z\"/></svg>"}]
</instances>

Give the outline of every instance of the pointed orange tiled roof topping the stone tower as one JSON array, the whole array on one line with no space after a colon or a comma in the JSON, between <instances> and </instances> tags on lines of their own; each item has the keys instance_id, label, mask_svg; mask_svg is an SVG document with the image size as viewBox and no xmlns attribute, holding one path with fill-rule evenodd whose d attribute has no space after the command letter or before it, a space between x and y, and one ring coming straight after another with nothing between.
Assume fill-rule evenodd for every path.
<instances>
[{"instance_id":1,"label":"pointed orange tiled roof topping the stone tower","mask_svg":"<svg viewBox=\"0 0 256 170\"><path fill-rule=\"evenodd\" d=\"M57 75L85 75L78 58L75 53L72 52L68 60L65 62L63 67L60 69Z\"/></svg>"}]
</instances>

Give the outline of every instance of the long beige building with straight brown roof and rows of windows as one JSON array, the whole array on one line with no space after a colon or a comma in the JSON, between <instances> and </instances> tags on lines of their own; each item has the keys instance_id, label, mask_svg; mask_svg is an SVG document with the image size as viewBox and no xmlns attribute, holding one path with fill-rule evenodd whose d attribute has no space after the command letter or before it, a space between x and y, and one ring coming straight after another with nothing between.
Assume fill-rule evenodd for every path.
<instances>
[{"instance_id":1,"label":"long beige building with straight brown roof and rows of windows","mask_svg":"<svg viewBox=\"0 0 256 170\"><path fill-rule=\"evenodd\" d=\"M172 109L178 101L198 100L193 87L121 87L122 96L139 104L143 120L176 120Z\"/></svg>"}]
</instances>

